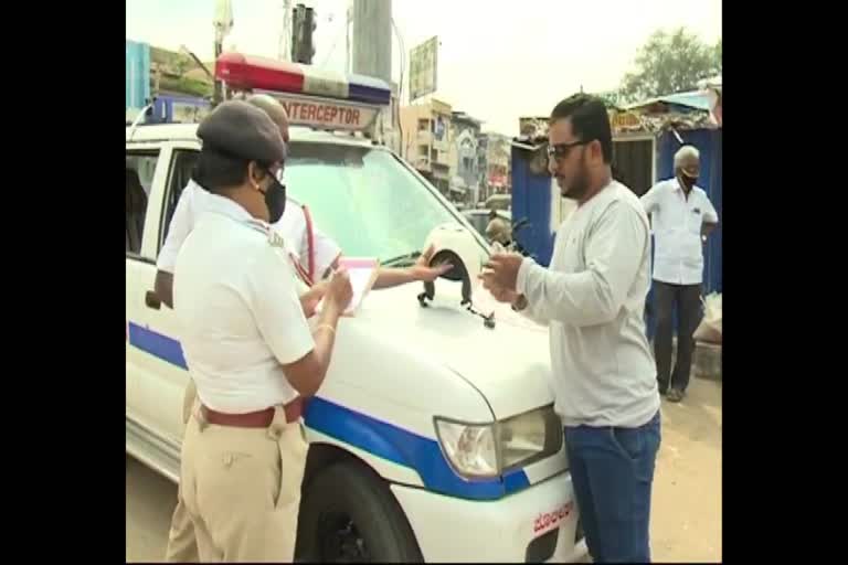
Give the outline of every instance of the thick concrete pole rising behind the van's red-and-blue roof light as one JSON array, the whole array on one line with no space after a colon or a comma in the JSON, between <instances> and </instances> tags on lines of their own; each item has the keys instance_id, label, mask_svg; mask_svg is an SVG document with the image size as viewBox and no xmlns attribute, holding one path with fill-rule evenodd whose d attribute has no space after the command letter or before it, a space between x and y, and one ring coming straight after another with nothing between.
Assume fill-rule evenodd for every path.
<instances>
[{"instance_id":1,"label":"thick concrete pole rising behind the van's red-and-blue roof light","mask_svg":"<svg viewBox=\"0 0 848 565\"><path fill-rule=\"evenodd\" d=\"M353 0L353 72L392 82L392 0Z\"/></svg>"}]
</instances>

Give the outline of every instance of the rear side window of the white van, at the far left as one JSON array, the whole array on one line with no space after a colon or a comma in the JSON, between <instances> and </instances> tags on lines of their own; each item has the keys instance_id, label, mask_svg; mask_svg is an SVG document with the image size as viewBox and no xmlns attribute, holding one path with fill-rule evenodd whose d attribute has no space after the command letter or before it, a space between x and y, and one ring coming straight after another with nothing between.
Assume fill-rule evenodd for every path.
<instances>
[{"instance_id":1,"label":"rear side window of the white van, at the far left","mask_svg":"<svg viewBox=\"0 0 848 565\"><path fill-rule=\"evenodd\" d=\"M127 151L126 156L126 253L138 257L145 234L145 218L153 182L158 150Z\"/></svg>"}]
</instances>

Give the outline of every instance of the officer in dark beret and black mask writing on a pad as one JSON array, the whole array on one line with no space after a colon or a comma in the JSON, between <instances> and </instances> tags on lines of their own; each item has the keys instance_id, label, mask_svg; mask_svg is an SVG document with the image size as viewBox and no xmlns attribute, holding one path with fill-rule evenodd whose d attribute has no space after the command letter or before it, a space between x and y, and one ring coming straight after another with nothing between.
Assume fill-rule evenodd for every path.
<instances>
[{"instance_id":1,"label":"officer in dark beret and black mask writing on a pad","mask_svg":"<svg viewBox=\"0 0 848 565\"><path fill-rule=\"evenodd\" d=\"M174 269L180 341L200 398L186 428L180 498L202 562L292 562L307 445L303 397L329 366L347 274L327 287L315 330L268 221L279 214L285 145L240 100L201 124L195 175L210 191ZM278 217L277 217L278 218Z\"/></svg>"}]
</instances>

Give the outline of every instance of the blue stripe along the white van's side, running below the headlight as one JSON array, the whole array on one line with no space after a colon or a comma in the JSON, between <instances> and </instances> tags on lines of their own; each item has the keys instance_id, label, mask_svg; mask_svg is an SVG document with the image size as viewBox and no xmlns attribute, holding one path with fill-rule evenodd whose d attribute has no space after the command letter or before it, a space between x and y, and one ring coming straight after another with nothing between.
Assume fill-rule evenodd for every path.
<instances>
[{"instance_id":1,"label":"blue stripe along the white van's side, running below the headlight","mask_svg":"<svg viewBox=\"0 0 848 565\"><path fill-rule=\"evenodd\" d=\"M130 322L129 343L162 361L188 369L182 347L174 339ZM465 480L451 468L436 440L319 396L309 402L304 419L310 429L417 471L424 487L434 492L473 500L497 500L530 486L522 469L506 473L502 480Z\"/></svg>"}]
</instances>

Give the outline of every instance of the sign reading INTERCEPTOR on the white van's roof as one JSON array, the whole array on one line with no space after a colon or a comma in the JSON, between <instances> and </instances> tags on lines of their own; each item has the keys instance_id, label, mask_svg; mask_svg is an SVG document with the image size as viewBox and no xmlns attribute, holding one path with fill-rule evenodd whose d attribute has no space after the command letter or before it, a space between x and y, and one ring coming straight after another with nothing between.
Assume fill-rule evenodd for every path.
<instances>
[{"instance_id":1,"label":"sign reading INTERCEPTOR on the white van's roof","mask_svg":"<svg viewBox=\"0 0 848 565\"><path fill-rule=\"evenodd\" d=\"M368 106L343 100L310 98L295 94L256 90L268 94L283 104L293 126L309 126L319 129L362 131L370 128L379 111L378 106Z\"/></svg>"}]
</instances>

